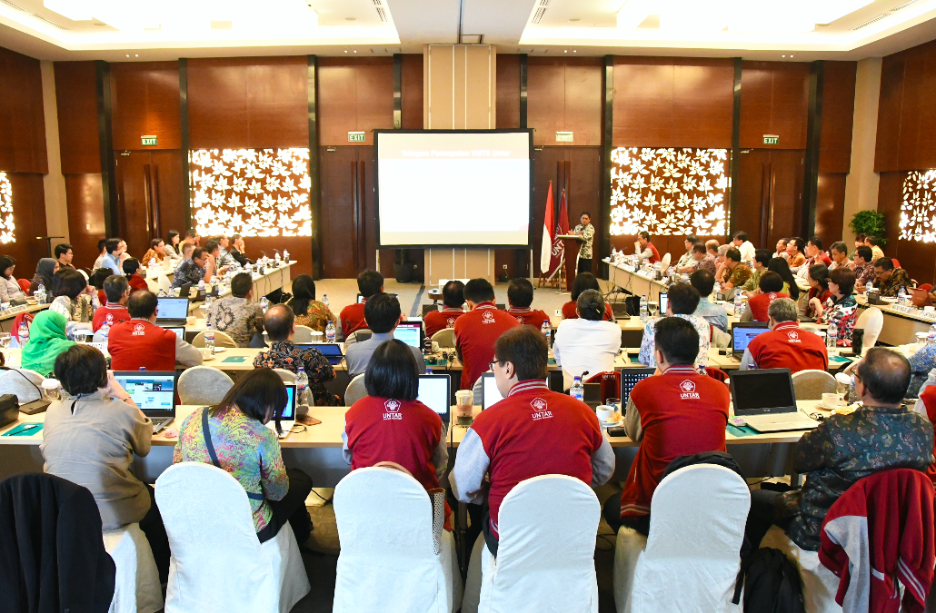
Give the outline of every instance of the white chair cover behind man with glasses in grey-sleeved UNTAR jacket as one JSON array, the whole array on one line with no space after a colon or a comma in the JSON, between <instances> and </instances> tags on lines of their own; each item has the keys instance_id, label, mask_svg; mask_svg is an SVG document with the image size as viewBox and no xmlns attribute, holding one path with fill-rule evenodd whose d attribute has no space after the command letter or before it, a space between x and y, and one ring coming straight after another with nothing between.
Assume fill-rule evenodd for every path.
<instances>
[{"instance_id":1,"label":"white chair cover behind man with glasses in grey-sleeved UNTAR jacket","mask_svg":"<svg viewBox=\"0 0 936 613\"><path fill-rule=\"evenodd\" d=\"M521 481L498 517L497 558L481 549L478 611L598 611L594 539L601 505L590 487L563 474Z\"/></svg>"}]
</instances>

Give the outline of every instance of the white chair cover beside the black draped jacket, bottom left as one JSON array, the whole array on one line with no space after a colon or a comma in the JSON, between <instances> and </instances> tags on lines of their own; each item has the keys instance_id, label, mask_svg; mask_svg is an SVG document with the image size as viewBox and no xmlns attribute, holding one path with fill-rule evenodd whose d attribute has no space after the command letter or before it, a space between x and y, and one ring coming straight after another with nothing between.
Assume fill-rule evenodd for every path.
<instances>
[{"instance_id":1,"label":"white chair cover beside the black draped jacket, bottom left","mask_svg":"<svg viewBox=\"0 0 936 613\"><path fill-rule=\"evenodd\" d=\"M105 530L104 548L117 569L108 613L155 613L163 608L163 591L153 549L139 523Z\"/></svg>"}]
</instances>

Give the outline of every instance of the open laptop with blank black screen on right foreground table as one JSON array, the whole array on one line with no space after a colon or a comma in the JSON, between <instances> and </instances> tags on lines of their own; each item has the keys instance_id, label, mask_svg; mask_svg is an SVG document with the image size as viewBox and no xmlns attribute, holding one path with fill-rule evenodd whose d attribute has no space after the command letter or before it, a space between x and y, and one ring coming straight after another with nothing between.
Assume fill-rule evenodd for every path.
<instances>
[{"instance_id":1,"label":"open laptop with blank black screen on right foreground table","mask_svg":"<svg viewBox=\"0 0 936 613\"><path fill-rule=\"evenodd\" d=\"M819 422L797 410L788 368L729 371L735 416L758 432L812 430Z\"/></svg>"}]
</instances>

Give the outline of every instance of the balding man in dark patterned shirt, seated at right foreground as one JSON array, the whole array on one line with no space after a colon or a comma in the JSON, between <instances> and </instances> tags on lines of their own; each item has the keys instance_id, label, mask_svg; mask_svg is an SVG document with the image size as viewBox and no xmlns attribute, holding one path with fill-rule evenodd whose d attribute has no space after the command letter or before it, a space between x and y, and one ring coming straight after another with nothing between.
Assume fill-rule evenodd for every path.
<instances>
[{"instance_id":1,"label":"balding man in dark patterned shirt, seated at right foreground","mask_svg":"<svg viewBox=\"0 0 936 613\"><path fill-rule=\"evenodd\" d=\"M846 489L879 471L926 471L932 462L932 424L902 405L910 382L907 359L872 348L854 378L863 406L851 415L827 416L796 446L793 470L806 474L803 488L752 490L747 533L754 547L776 524L798 547L817 551L823 520Z\"/></svg>"}]
</instances>

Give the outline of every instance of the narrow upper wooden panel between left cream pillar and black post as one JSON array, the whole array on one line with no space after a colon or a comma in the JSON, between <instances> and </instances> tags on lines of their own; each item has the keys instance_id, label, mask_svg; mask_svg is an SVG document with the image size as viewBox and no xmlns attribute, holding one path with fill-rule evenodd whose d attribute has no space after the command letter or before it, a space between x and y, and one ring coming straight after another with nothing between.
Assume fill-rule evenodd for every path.
<instances>
[{"instance_id":1,"label":"narrow upper wooden panel between left cream pillar and black post","mask_svg":"<svg viewBox=\"0 0 936 613\"><path fill-rule=\"evenodd\" d=\"M100 172L95 63L56 62L54 69L62 173ZM94 260L91 263L94 264Z\"/></svg>"}]
</instances>

